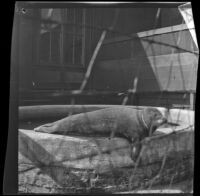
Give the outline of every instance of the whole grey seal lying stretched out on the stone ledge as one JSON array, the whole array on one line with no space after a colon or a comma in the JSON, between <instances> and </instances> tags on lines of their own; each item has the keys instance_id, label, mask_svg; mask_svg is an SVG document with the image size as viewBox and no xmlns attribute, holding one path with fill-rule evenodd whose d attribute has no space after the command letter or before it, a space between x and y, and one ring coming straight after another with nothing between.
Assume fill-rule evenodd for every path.
<instances>
[{"instance_id":1,"label":"whole grey seal lying stretched out on the stone ledge","mask_svg":"<svg viewBox=\"0 0 200 196\"><path fill-rule=\"evenodd\" d=\"M155 108L143 110L124 106L68 116L35 128L35 131L66 135L123 136L130 141L148 137L166 118Z\"/></svg>"}]
</instances>

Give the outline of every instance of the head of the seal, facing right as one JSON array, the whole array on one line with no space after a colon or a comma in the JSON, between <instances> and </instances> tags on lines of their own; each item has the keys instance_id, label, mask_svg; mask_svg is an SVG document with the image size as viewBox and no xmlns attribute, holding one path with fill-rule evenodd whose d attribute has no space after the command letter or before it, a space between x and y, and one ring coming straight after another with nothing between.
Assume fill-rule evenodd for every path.
<instances>
[{"instance_id":1,"label":"head of the seal, facing right","mask_svg":"<svg viewBox=\"0 0 200 196\"><path fill-rule=\"evenodd\" d=\"M145 108L142 111L142 120L148 129L149 136L161 125L167 123L167 118L156 108Z\"/></svg>"}]
</instances>

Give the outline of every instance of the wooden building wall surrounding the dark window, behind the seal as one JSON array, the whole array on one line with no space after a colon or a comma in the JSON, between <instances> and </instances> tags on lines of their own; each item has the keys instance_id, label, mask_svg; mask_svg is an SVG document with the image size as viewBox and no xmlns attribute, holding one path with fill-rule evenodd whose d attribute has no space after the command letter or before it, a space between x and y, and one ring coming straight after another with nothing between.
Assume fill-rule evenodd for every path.
<instances>
[{"instance_id":1,"label":"wooden building wall surrounding the dark window, behind the seal","mask_svg":"<svg viewBox=\"0 0 200 196\"><path fill-rule=\"evenodd\" d=\"M19 88L25 89L26 92L79 88L102 33L101 28L108 27L112 23L114 11L115 9L112 8L86 9L86 25L91 28L86 28L85 32L85 67L38 64L39 20L32 20L29 16L38 17L39 13L37 10L28 10L26 15L20 16ZM189 93L196 90L198 56L185 51L197 50L189 31L185 25L176 25L182 22L182 18L175 8L162 9L156 27L165 27L164 30L149 30L155 24L156 12L155 8L120 10L115 28L115 31L120 33L108 33L97 56L87 90L124 92L133 86L135 77L139 79L138 92L147 93L142 97L148 97L148 92L155 93L163 90L171 93L177 91ZM141 23L139 18L143 18L144 22ZM92 28L96 26L100 29ZM138 31L141 33L137 33ZM133 35L134 38L126 34ZM175 46L179 40L178 47L184 50L172 49L162 44L148 44L144 39ZM142 97L140 96L138 100L142 100ZM103 95L94 97L89 102L119 104L121 99ZM147 103L149 99L153 100L153 97L146 98L144 102Z\"/></svg>"}]
</instances>

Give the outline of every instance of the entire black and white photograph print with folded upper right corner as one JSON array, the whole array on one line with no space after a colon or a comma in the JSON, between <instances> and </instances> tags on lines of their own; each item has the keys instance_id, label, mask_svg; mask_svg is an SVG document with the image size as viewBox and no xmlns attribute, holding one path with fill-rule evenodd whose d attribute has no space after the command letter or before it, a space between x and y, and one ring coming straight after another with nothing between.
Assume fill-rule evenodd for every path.
<instances>
[{"instance_id":1,"label":"entire black and white photograph print with folded upper right corner","mask_svg":"<svg viewBox=\"0 0 200 196\"><path fill-rule=\"evenodd\" d=\"M193 194L192 8L16 2L19 193Z\"/></svg>"}]
</instances>

